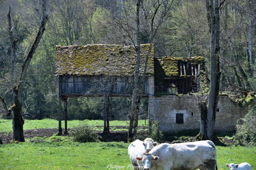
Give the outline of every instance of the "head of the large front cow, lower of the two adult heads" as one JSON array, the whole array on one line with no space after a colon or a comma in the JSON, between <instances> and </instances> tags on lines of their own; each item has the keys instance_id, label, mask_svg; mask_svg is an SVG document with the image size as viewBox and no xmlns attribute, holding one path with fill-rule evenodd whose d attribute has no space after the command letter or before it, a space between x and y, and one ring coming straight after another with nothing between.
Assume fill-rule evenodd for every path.
<instances>
[{"instance_id":1,"label":"head of the large front cow, lower of the two adult heads","mask_svg":"<svg viewBox=\"0 0 256 170\"><path fill-rule=\"evenodd\" d=\"M138 161L142 161L144 170L151 170L155 162L159 159L158 156L153 156L151 153L144 153L141 157L136 157Z\"/></svg>"}]
</instances>

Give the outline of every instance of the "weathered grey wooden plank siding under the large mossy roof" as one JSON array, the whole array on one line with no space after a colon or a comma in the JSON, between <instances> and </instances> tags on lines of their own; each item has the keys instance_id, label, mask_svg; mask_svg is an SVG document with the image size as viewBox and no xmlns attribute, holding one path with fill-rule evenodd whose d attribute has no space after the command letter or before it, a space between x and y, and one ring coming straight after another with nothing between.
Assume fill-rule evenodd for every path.
<instances>
[{"instance_id":1,"label":"weathered grey wooden plank siding under the large mossy roof","mask_svg":"<svg viewBox=\"0 0 256 170\"><path fill-rule=\"evenodd\" d=\"M60 75L60 95L131 95L133 80L130 77L100 77L89 75ZM148 77L144 94L148 94Z\"/></svg>"}]
</instances>

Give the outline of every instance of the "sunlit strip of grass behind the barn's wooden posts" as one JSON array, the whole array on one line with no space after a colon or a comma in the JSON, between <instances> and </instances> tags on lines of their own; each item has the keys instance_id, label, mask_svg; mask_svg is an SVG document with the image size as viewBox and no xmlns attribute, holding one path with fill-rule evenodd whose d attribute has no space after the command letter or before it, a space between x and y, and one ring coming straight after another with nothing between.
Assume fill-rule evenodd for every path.
<instances>
[{"instance_id":1,"label":"sunlit strip of grass behind the barn's wooden posts","mask_svg":"<svg viewBox=\"0 0 256 170\"><path fill-rule=\"evenodd\" d=\"M79 126L82 123L82 120L68 120L68 128L73 128ZM84 122L89 125L94 126L103 126L103 120L84 120ZM128 121L118 121L112 120L109 121L111 126L128 126ZM64 126L64 121L62 121L62 127ZM139 126L145 126L144 120L139 120ZM25 120L23 126L24 130L27 129L40 129L40 128L58 128L58 121L53 119L43 119L43 120ZM0 119L0 132L10 132L12 131L12 120Z\"/></svg>"}]
</instances>

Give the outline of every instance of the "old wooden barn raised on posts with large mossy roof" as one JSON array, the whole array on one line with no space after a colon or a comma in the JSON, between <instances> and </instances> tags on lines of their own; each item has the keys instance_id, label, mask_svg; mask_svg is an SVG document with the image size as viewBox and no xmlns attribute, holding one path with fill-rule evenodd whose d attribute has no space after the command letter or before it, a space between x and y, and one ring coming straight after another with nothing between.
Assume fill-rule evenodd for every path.
<instances>
[{"instance_id":1,"label":"old wooden barn raised on posts with large mossy roof","mask_svg":"<svg viewBox=\"0 0 256 170\"><path fill-rule=\"evenodd\" d=\"M141 45L140 76L144 71L148 44ZM143 97L154 95L154 48L148 58ZM61 101L64 101L65 131L67 133L67 98L104 97L104 132L109 131L109 97L132 95L136 51L132 46L85 45L56 46L56 75L59 78L59 135Z\"/></svg>"}]
</instances>

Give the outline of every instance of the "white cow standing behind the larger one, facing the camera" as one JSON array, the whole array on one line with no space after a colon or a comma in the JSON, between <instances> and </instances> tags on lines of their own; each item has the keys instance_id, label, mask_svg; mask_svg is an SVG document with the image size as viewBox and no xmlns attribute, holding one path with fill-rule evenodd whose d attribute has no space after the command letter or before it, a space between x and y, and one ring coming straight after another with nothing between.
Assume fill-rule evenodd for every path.
<instances>
[{"instance_id":1,"label":"white cow standing behind the larger one, facing the camera","mask_svg":"<svg viewBox=\"0 0 256 170\"><path fill-rule=\"evenodd\" d=\"M128 147L128 155L134 167L133 169L143 169L142 162L138 162L136 157L143 155L145 152L149 152L155 146L157 146L157 142L153 142L151 138L146 138L144 142L139 139L131 142ZM135 168L136 166L141 168Z\"/></svg>"}]
</instances>

